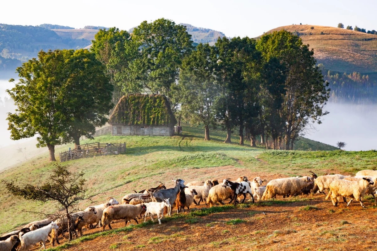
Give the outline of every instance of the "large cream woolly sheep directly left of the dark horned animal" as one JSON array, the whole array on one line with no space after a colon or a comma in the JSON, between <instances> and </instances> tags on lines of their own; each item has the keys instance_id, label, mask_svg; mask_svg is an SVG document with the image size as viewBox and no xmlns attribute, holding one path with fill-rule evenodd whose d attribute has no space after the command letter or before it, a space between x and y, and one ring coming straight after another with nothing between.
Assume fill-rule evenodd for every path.
<instances>
[{"instance_id":1,"label":"large cream woolly sheep directly left of the dark horned animal","mask_svg":"<svg viewBox=\"0 0 377 251\"><path fill-rule=\"evenodd\" d=\"M271 180L267 183L266 190L263 193L262 200L276 198L276 195L294 195L300 193L300 191L308 185L311 181L311 177L303 176L301 178L280 178Z\"/></svg>"}]
</instances>

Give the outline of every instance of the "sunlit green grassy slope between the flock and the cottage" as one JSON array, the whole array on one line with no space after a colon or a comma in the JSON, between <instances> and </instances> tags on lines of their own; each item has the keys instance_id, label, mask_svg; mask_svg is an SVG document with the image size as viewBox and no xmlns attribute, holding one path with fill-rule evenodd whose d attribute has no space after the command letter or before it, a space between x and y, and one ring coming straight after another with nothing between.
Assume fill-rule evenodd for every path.
<instances>
[{"instance_id":1,"label":"sunlit green grassy slope between the flock and the cottage","mask_svg":"<svg viewBox=\"0 0 377 251\"><path fill-rule=\"evenodd\" d=\"M74 172L83 171L89 193L103 194L93 201L83 201L81 208L100 204L109 196L118 201L132 190L142 190L161 181L172 187L172 178L183 178L186 182L207 178L236 178L261 176L267 180L277 177L306 175L313 170L318 175L331 172L353 174L362 169L377 168L377 152L322 151L334 147L300 139L297 145L300 151L272 151L264 147L239 146L239 137L233 135L232 144L222 143L225 132L211 130L211 141L204 141L204 129L183 126L183 135L174 137L149 136L110 136L105 135L95 140L83 140L81 143L126 142L126 154L98 156L87 159L64 162ZM305 146L307 148L305 148ZM69 145L57 147L55 154L66 151ZM72 147L72 146L71 146ZM303 151L319 149L321 151ZM36 184L48 178L48 170L53 163L48 163L48 154L39 155L32 160L0 172L1 180L17 180L17 184ZM106 193L106 194L105 194ZM8 232L39 216L25 211L52 213L56 208L52 203L44 205L38 202L13 198L5 193L0 185L0 233Z\"/></svg>"}]
</instances>

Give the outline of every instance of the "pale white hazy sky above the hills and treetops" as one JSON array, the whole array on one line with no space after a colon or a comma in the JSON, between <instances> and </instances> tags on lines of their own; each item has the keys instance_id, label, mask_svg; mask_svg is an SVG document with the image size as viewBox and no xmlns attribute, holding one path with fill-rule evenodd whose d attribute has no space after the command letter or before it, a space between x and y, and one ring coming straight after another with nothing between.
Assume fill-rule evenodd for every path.
<instances>
[{"instance_id":1,"label":"pale white hazy sky above the hills and treetops","mask_svg":"<svg viewBox=\"0 0 377 251\"><path fill-rule=\"evenodd\" d=\"M342 22L377 30L376 7L375 0L2 0L0 23L116 26L128 30L144 20L164 17L219 30L227 37L257 37L273 28L299 23L336 26Z\"/></svg>"}]
</instances>

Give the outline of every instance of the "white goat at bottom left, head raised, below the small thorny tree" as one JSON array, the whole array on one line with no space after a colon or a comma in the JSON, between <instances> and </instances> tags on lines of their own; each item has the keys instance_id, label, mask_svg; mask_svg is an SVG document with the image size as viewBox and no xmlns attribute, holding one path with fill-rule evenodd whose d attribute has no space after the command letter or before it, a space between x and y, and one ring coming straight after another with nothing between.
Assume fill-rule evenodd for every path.
<instances>
[{"instance_id":1,"label":"white goat at bottom left, head raised, below the small thorny tree","mask_svg":"<svg viewBox=\"0 0 377 251\"><path fill-rule=\"evenodd\" d=\"M28 251L33 245L42 242L43 249L46 249L46 240L49 233L54 229L55 231L58 229L58 225L55 222L51 222L51 224L44 226L42 228L38 228L37 230L28 232L20 237L21 246L18 251Z\"/></svg>"}]
</instances>

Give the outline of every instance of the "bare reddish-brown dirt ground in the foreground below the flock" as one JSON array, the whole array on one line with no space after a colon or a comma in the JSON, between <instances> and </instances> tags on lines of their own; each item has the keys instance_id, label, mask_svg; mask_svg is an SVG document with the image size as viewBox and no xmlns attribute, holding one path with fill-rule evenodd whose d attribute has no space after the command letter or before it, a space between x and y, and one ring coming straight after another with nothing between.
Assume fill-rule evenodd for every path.
<instances>
[{"instance_id":1,"label":"bare reddish-brown dirt ground in the foreground below the flock","mask_svg":"<svg viewBox=\"0 0 377 251\"><path fill-rule=\"evenodd\" d=\"M203 217L164 220L162 225L97 237L64 250L376 250L377 208L371 207L371 199L366 209L358 203L335 208L323 195L278 199ZM112 227L124 227L124 222Z\"/></svg>"}]
</instances>

